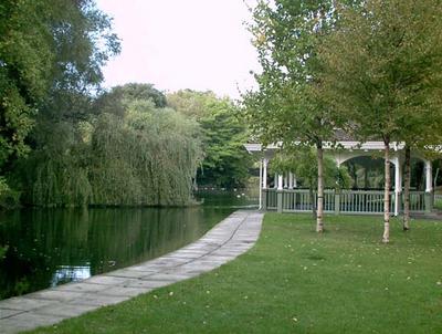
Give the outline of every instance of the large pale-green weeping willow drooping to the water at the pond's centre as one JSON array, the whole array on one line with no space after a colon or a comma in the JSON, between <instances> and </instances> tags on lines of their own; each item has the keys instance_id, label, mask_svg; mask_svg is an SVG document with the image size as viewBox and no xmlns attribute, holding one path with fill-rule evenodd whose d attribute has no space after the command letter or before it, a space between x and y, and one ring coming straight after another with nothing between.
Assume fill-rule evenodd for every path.
<instances>
[{"instance_id":1,"label":"large pale-green weeping willow drooping to the water at the pond's centre","mask_svg":"<svg viewBox=\"0 0 442 334\"><path fill-rule=\"evenodd\" d=\"M93 205L180 206L191 201L201 159L198 126L136 101L124 117L103 114L92 138Z\"/></svg>"}]
</instances>

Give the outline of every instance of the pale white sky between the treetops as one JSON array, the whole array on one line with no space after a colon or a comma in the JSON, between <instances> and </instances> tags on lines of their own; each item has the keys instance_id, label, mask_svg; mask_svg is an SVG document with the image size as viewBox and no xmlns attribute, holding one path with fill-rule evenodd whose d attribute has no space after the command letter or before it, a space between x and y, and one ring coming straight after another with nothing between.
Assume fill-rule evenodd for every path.
<instances>
[{"instance_id":1,"label":"pale white sky between the treetops","mask_svg":"<svg viewBox=\"0 0 442 334\"><path fill-rule=\"evenodd\" d=\"M254 3L248 0L246 3ZM104 69L105 87L128 82L158 90L211 90L239 97L260 69L243 24L243 0L97 0L114 18L122 53Z\"/></svg>"}]
</instances>

